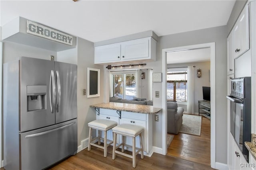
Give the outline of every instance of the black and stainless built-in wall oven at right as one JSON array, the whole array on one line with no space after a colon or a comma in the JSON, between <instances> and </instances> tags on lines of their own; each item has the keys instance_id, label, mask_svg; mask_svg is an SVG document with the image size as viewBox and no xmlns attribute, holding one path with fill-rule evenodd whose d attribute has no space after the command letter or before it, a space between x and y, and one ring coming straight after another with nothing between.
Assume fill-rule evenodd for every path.
<instances>
[{"instance_id":1,"label":"black and stainless built-in wall oven at right","mask_svg":"<svg viewBox=\"0 0 256 170\"><path fill-rule=\"evenodd\" d=\"M244 142L251 141L251 77L231 80L230 132L248 162L249 152Z\"/></svg>"}]
</instances>

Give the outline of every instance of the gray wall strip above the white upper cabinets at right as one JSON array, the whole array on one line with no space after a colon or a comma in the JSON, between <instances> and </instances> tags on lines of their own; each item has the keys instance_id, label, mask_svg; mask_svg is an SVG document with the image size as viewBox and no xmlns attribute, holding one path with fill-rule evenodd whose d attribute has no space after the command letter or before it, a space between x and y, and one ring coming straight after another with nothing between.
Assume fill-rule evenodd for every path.
<instances>
[{"instance_id":1,"label":"gray wall strip above the white upper cabinets at right","mask_svg":"<svg viewBox=\"0 0 256 170\"><path fill-rule=\"evenodd\" d=\"M247 3L247 1L248 0L236 0L236 3L234 4L233 10L230 14L230 17L227 23L228 34L230 33L231 29L236 23L236 20L239 14L241 13L242 9L244 8L245 4Z\"/></svg>"}]
</instances>

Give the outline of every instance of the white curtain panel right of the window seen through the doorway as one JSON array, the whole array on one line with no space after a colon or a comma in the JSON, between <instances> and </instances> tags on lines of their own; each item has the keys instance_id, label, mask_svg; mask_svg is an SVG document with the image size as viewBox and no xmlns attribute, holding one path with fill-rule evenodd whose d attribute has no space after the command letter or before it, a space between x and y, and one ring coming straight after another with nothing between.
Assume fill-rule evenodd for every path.
<instances>
[{"instance_id":1,"label":"white curtain panel right of the window seen through the doorway","mask_svg":"<svg viewBox=\"0 0 256 170\"><path fill-rule=\"evenodd\" d=\"M194 67L188 66L188 114L194 114Z\"/></svg>"}]
</instances>

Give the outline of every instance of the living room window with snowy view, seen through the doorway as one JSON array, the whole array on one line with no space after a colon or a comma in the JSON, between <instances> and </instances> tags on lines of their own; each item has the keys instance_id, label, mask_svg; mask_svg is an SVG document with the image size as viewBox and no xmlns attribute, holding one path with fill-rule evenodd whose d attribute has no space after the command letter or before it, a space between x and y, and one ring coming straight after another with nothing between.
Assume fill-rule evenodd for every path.
<instances>
[{"instance_id":1,"label":"living room window with snowy view, seen through the doorway","mask_svg":"<svg viewBox=\"0 0 256 170\"><path fill-rule=\"evenodd\" d=\"M167 100L186 102L188 92L188 69L171 68L167 70Z\"/></svg>"}]
</instances>

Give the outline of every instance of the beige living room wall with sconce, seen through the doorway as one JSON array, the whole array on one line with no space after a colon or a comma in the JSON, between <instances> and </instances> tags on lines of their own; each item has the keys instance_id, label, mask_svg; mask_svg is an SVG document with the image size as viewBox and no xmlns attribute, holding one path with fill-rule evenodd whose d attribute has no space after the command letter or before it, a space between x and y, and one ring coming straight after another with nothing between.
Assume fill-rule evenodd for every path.
<instances>
[{"instance_id":1,"label":"beige living room wall with sconce, seen through the doorway","mask_svg":"<svg viewBox=\"0 0 256 170\"><path fill-rule=\"evenodd\" d=\"M210 55L210 54L209 54ZM194 68L194 112L198 113L198 100L203 100L202 86L210 86L210 61L196 62L196 63L180 63L180 64L168 64L168 67L184 67L184 66L196 66ZM198 78L196 76L197 69L201 69L202 77ZM179 107L183 107L184 111L187 111L187 105L181 105L178 103Z\"/></svg>"}]
</instances>

